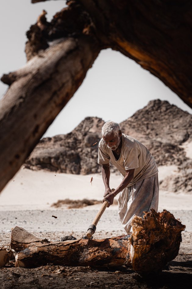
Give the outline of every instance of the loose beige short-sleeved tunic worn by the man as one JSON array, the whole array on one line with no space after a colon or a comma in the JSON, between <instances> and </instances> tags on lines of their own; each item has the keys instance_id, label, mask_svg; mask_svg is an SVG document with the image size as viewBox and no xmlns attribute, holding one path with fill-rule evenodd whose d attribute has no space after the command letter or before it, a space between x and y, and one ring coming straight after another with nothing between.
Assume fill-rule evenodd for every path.
<instances>
[{"instance_id":1,"label":"loose beige short-sleeved tunic worn by the man","mask_svg":"<svg viewBox=\"0 0 192 289\"><path fill-rule=\"evenodd\" d=\"M155 159L146 146L129 135L122 134L121 155L118 160L114 157L112 150L107 147L104 139L100 140L98 164L105 165L108 164L109 161L116 166L123 177L126 174L126 170L135 169L133 179L129 183L129 186L150 176L154 176L158 172Z\"/></svg>"}]
</instances>

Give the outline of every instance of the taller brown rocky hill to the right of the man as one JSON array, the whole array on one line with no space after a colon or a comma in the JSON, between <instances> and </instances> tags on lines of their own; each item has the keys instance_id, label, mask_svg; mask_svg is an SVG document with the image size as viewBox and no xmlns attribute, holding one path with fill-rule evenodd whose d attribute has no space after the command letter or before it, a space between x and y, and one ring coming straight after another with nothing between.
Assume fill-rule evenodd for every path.
<instances>
[{"instance_id":1,"label":"taller brown rocky hill to the right of the man","mask_svg":"<svg viewBox=\"0 0 192 289\"><path fill-rule=\"evenodd\" d=\"M180 145L192 140L192 115L177 106L152 100L120 126L147 146L158 165L181 165L187 160Z\"/></svg>"}]
</instances>

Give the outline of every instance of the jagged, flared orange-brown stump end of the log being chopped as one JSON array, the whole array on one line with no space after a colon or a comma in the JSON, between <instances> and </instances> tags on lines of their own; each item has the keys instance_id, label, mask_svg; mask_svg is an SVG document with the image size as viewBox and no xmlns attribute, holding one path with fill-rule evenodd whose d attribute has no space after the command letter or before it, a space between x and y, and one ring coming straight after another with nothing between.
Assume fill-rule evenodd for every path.
<instances>
[{"instance_id":1,"label":"jagged, flared orange-brown stump end of the log being chopped","mask_svg":"<svg viewBox=\"0 0 192 289\"><path fill-rule=\"evenodd\" d=\"M131 263L134 271L142 275L159 272L177 256L185 225L171 213L152 209L145 212L143 219L135 216L131 224L133 232L126 263Z\"/></svg>"}]
</instances>

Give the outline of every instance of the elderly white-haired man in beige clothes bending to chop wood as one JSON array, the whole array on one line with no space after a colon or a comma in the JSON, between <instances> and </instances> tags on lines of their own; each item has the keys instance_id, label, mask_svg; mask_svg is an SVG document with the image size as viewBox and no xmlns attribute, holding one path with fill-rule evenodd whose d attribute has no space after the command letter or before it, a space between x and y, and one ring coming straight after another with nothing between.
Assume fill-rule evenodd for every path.
<instances>
[{"instance_id":1,"label":"elderly white-haired man in beige clothes bending to chop wood","mask_svg":"<svg viewBox=\"0 0 192 289\"><path fill-rule=\"evenodd\" d=\"M113 192L109 187L109 161L116 166L123 178ZM119 124L108 121L102 128L98 164L102 165L104 200L108 201L109 207L119 194L119 219L128 234L135 215L142 217L144 211L158 210L159 184L155 159L142 143L122 134Z\"/></svg>"}]
</instances>

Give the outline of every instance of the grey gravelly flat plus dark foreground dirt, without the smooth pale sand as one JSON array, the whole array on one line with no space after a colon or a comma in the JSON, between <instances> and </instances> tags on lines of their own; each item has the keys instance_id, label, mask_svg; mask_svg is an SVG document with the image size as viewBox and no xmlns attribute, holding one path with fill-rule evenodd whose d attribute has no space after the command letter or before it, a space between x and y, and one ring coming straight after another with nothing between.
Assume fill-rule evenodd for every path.
<instances>
[{"instance_id":1,"label":"grey gravelly flat plus dark foreground dirt, without the smooth pale sand","mask_svg":"<svg viewBox=\"0 0 192 289\"><path fill-rule=\"evenodd\" d=\"M97 210L26 210L2 211L0 218L0 244L10 242L11 227L19 225L37 237L45 237L58 241L65 235L81 238L85 229L97 213ZM0 269L0 288L162 288L191 289L192 283L192 211L173 211L175 217L180 217L183 224L187 222L187 232L182 233L183 242L178 256L169 262L159 276L143 278L131 269L66 267L52 264L39 268L16 268L14 262L9 262ZM57 216L57 219L52 215ZM86 218L85 218L86 216ZM102 239L123 235L124 230L114 209L105 211L97 226L94 238Z\"/></svg>"}]
</instances>

